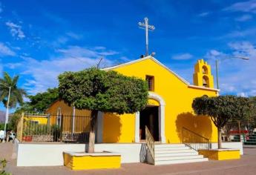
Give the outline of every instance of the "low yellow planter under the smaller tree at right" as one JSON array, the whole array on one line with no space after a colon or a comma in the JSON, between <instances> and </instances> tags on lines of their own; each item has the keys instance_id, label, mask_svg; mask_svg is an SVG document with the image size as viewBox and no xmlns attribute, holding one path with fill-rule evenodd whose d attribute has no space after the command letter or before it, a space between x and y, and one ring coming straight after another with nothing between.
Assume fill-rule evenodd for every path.
<instances>
[{"instance_id":1,"label":"low yellow planter under the smaller tree at right","mask_svg":"<svg viewBox=\"0 0 256 175\"><path fill-rule=\"evenodd\" d=\"M235 149L200 150L199 153L214 160L240 159L240 150Z\"/></svg>"}]
</instances>

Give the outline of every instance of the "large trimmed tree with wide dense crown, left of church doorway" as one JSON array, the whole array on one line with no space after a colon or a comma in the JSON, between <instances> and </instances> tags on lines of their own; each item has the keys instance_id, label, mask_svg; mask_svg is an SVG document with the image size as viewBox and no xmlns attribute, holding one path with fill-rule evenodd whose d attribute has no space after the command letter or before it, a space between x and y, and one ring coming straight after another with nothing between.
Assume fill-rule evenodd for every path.
<instances>
[{"instance_id":1,"label":"large trimmed tree with wide dense crown, left of church doorway","mask_svg":"<svg viewBox=\"0 0 256 175\"><path fill-rule=\"evenodd\" d=\"M88 152L93 153L98 111L122 114L142 110L148 86L142 79L90 68L59 75L59 96L78 109L91 110Z\"/></svg>"}]
</instances>

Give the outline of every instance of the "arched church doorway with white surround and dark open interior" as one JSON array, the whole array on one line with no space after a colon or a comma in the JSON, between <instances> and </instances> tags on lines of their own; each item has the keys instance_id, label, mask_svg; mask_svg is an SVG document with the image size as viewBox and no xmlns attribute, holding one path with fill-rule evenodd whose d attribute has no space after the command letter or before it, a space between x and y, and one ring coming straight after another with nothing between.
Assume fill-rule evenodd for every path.
<instances>
[{"instance_id":1,"label":"arched church doorway with white surround and dark open interior","mask_svg":"<svg viewBox=\"0 0 256 175\"><path fill-rule=\"evenodd\" d=\"M149 104L147 108L136 113L135 142L144 139L145 125L151 131L156 141L165 143L165 101L157 93L149 92L148 99L157 101L157 104Z\"/></svg>"}]
</instances>

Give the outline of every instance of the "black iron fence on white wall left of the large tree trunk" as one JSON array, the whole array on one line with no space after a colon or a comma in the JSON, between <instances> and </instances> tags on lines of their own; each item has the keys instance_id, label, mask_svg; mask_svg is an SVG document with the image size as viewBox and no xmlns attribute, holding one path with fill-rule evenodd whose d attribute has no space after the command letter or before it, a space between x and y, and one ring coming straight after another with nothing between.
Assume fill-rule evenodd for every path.
<instances>
[{"instance_id":1,"label":"black iron fence on white wall left of the large tree trunk","mask_svg":"<svg viewBox=\"0 0 256 175\"><path fill-rule=\"evenodd\" d=\"M88 142L90 116L24 114L22 118L18 131L22 142Z\"/></svg>"}]
</instances>

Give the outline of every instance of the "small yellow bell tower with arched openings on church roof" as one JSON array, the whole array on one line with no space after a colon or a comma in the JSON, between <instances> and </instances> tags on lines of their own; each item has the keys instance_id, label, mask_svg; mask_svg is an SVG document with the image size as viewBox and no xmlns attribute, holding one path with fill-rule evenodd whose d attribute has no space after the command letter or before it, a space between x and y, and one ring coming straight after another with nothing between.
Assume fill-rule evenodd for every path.
<instances>
[{"instance_id":1,"label":"small yellow bell tower with arched openings on church roof","mask_svg":"<svg viewBox=\"0 0 256 175\"><path fill-rule=\"evenodd\" d=\"M203 59L197 61L194 65L194 85L214 88L214 79L211 75L211 66Z\"/></svg>"}]
</instances>

